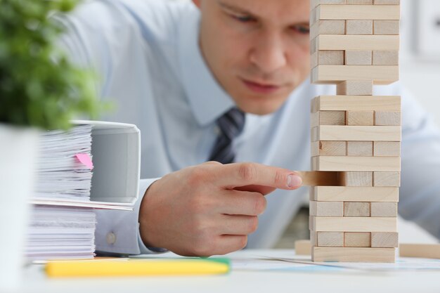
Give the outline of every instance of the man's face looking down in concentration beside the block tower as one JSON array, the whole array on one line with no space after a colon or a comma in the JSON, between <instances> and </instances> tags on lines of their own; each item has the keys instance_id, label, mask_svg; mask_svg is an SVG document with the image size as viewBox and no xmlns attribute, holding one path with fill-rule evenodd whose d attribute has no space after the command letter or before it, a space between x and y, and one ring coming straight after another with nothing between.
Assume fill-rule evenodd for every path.
<instances>
[{"instance_id":1,"label":"man's face looking down in concentration beside the block tower","mask_svg":"<svg viewBox=\"0 0 440 293\"><path fill-rule=\"evenodd\" d=\"M193 0L200 46L238 107L275 112L309 74L308 0Z\"/></svg>"}]
</instances>

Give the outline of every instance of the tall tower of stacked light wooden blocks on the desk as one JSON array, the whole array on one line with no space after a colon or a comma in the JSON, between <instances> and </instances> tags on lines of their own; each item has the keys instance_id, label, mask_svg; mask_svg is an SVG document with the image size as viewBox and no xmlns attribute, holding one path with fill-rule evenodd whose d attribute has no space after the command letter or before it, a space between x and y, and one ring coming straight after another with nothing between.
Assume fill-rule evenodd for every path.
<instances>
[{"instance_id":1,"label":"tall tower of stacked light wooden blocks on the desk","mask_svg":"<svg viewBox=\"0 0 440 293\"><path fill-rule=\"evenodd\" d=\"M399 79L399 0L311 0L311 82L337 96L311 105L313 261L393 262L397 247L401 99L373 96Z\"/></svg>"}]
</instances>

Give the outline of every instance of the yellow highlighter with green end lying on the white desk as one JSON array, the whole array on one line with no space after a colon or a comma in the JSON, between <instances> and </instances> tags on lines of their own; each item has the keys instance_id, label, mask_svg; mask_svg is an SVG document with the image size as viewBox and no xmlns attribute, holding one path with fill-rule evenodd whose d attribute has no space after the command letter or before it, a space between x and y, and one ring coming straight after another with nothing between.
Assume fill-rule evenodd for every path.
<instances>
[{"instance_id":1,"label":"yellow highlighter with green end lying on the white desk","mask_svg":"<svg viewBox=\"0 0 440 293\"><path fill-rule=\"evenodd\" d=\"M231 269L229 259L129 259L127 261L49 261L49 277L217 275Z\"/></svg>"}]
</instances>

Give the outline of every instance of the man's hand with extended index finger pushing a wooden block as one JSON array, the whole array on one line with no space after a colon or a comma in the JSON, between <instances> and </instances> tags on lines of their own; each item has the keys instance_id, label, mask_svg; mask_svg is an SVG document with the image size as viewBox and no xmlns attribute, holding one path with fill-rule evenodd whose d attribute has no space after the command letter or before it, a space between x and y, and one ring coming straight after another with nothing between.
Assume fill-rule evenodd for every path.
<instances>
[{"instance_id":1,"label":"man's hand with extended index finger pushing a wooden block","mask_svg":"<svg viewBox=\"0 0 440 293\"><path fill-rule=\"evenodd\" d=\"M302 184L294 172L254 163L207 162L155 181L139 211L143 242L184 256L242 249L266 209L264 195Z\"/></svg>"}]
</instances>

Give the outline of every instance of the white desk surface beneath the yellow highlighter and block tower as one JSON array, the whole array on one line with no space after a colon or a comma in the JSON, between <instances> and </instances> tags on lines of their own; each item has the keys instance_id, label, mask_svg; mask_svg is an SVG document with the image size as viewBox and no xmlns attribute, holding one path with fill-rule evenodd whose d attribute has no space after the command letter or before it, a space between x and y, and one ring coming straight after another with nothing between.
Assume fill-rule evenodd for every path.
<instances>
[{"instance_id":1,"label":"white desk surface beneath the yellow highlighter and block tower","mask_svg":"<svg viewBox=\"0 0 440 293\"><path fill-rule=\"evenodd\" d=\"M295 258L292 250L247 250L229 255L231 259L255 256ZM25 272L19 292L32 293L136 293L136 292L440 292L440 271L399 271L365 273L237 271L228 275L145 278L48 279L42 266L32 265Z\"/></svg>"}]
</instances>

